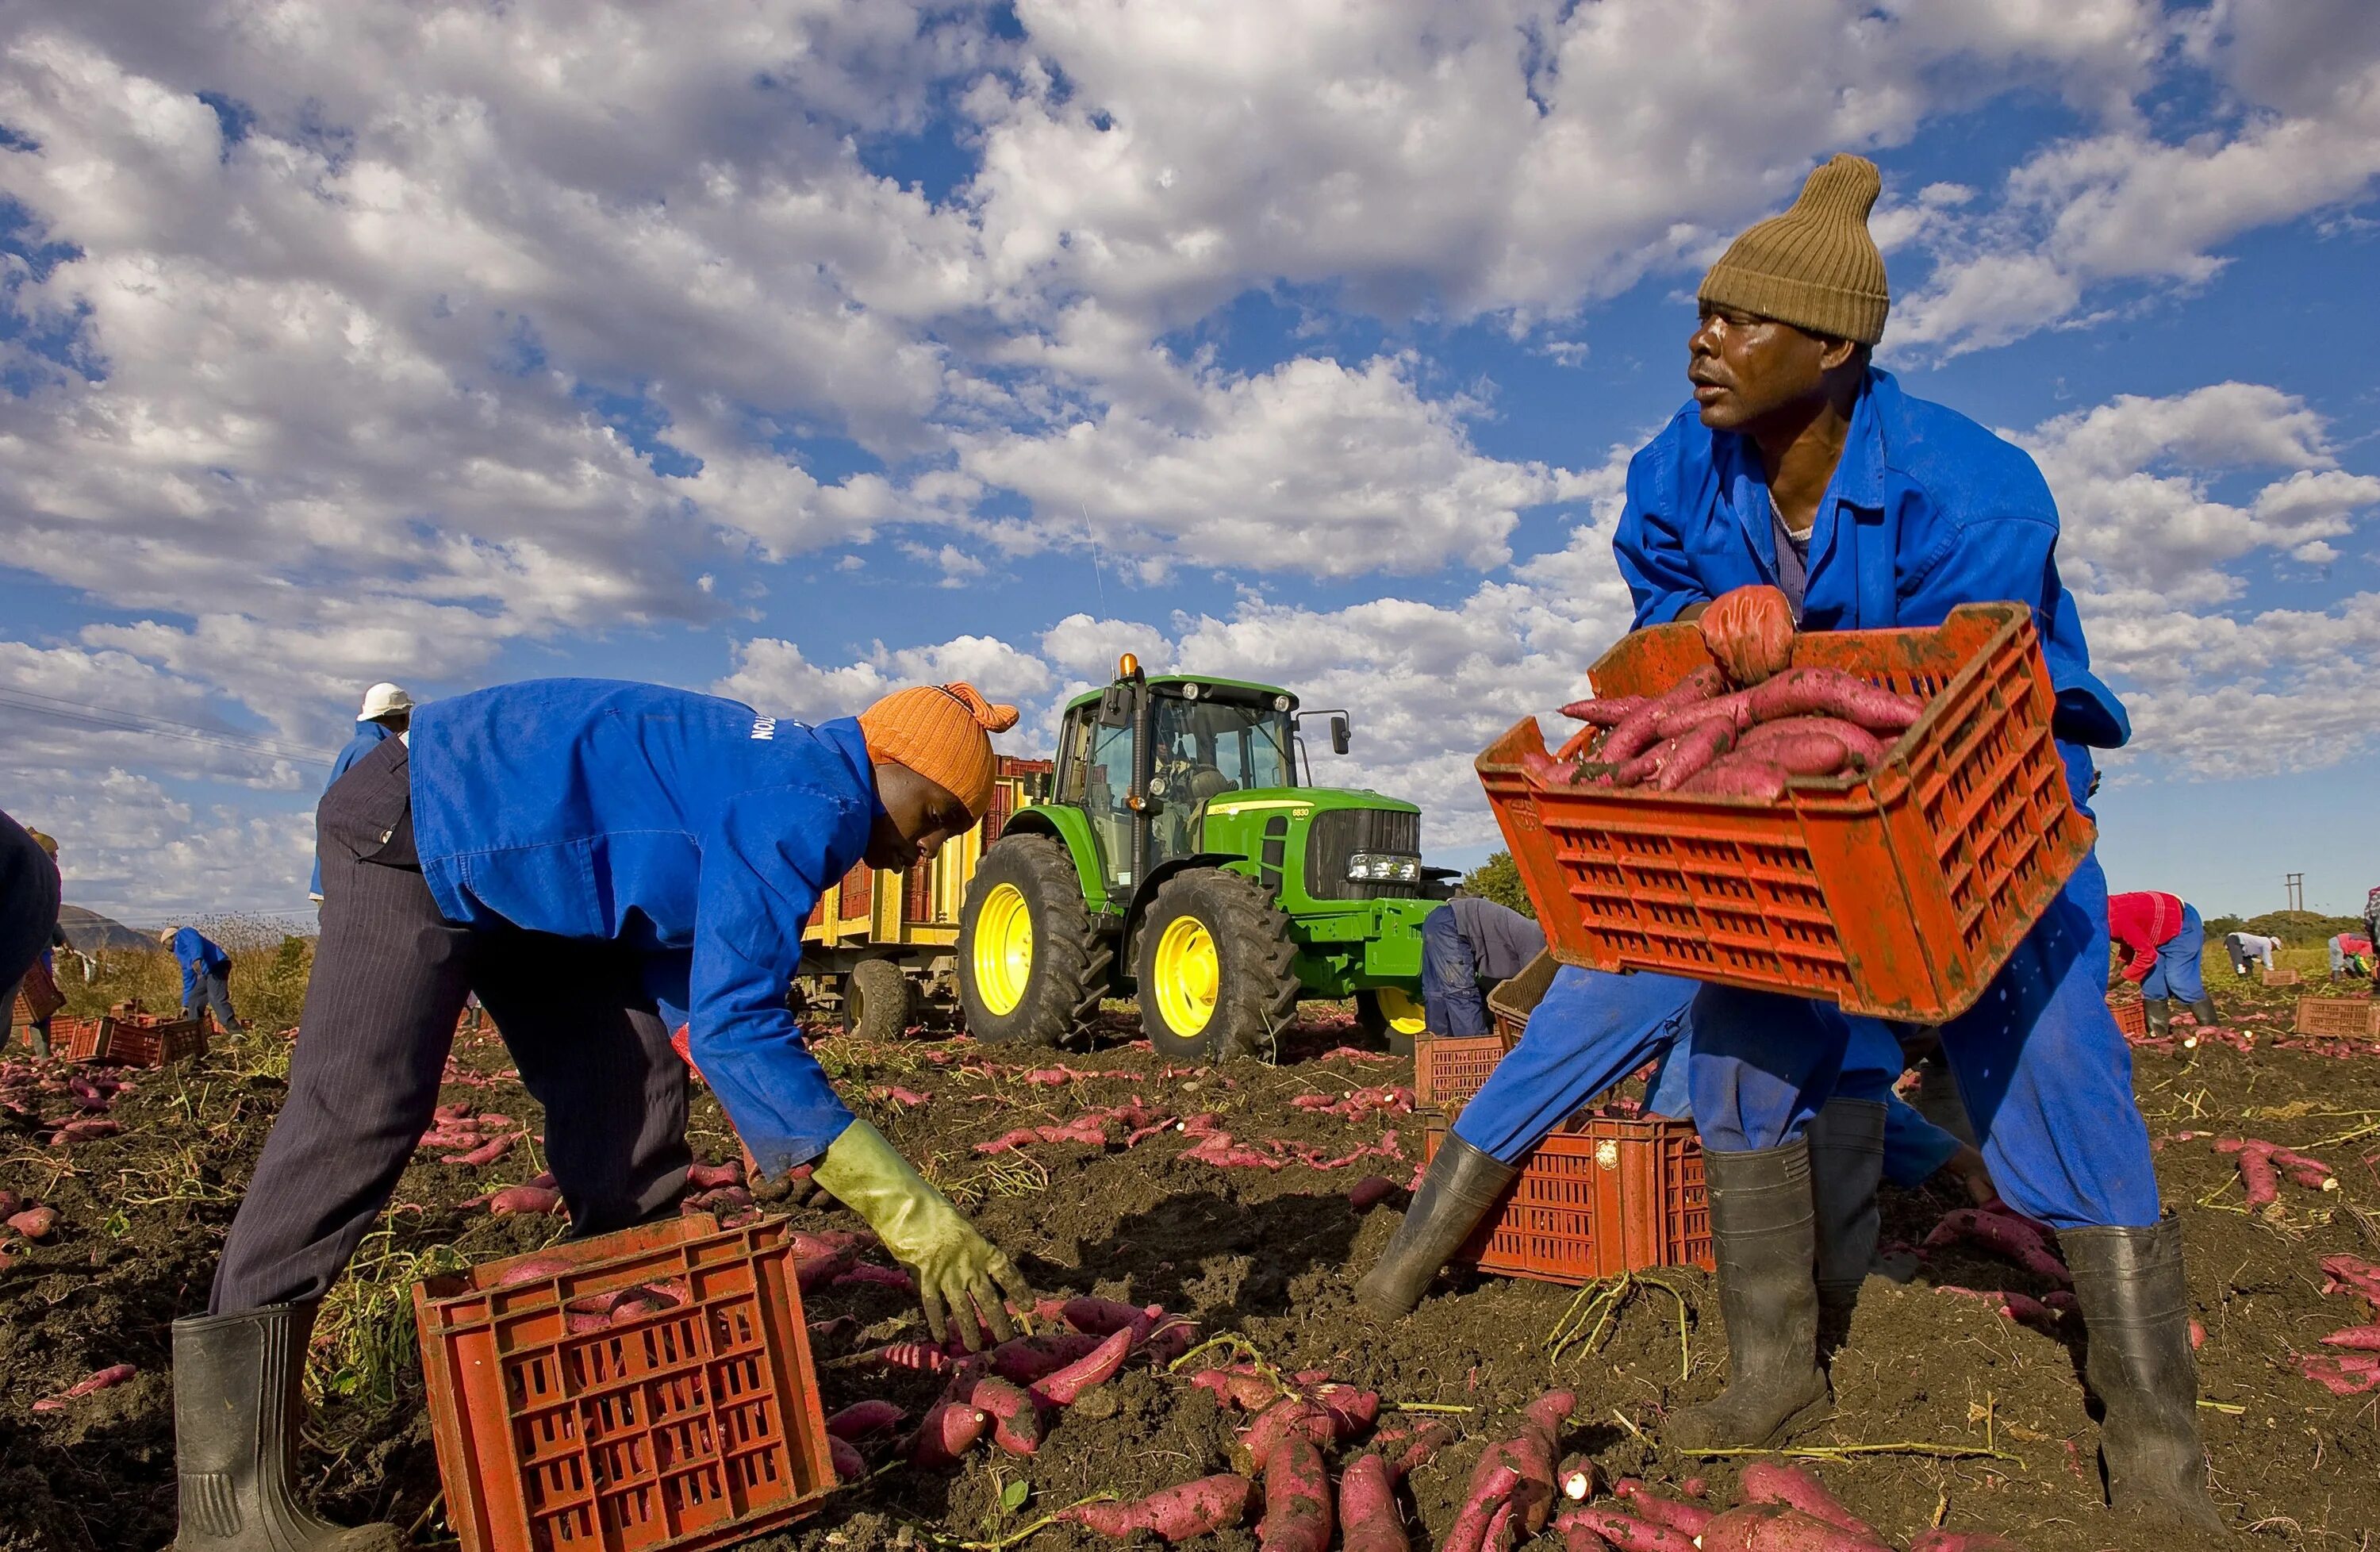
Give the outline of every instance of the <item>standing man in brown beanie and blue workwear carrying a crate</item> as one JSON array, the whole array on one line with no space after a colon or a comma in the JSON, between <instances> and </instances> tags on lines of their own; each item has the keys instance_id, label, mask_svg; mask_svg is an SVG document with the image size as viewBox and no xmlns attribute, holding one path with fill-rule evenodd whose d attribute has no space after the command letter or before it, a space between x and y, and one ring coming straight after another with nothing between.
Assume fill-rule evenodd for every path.
<instances>
[{"instance_id":1,"label":"standing man in brown beanie and blue workwear carrying a crate","mask_svg":"<svg viewBox=\"0 0 2380 1552\"><path fill-rule=\"evenodd\" d=\"M1628 467L1614 533L1635 624L1695 619L1752 583L1799 593L1804 631L1937 626L1971 602L2030 607L2068 793L2130 721L2090 671L2059 581L2040 469L1868 362L1890 293L1859 157L1816 169L1699 290L1695 402ZM2130 1052L2106 1007L2106 881L2085 857L1942 1052L2009 1202L2052 1224L2090 1326L2102 1454L2125 1514L2216 1528L2197 1435L2180 1228L2161 1214ZM1671 1414L1671 1443L1768 1445L1825 1407L1806 1126L1849 1031L1816 1002L1706 985L1690 1083L1706 1150L1730 1383Z\"/></svg>"}]
</instances>

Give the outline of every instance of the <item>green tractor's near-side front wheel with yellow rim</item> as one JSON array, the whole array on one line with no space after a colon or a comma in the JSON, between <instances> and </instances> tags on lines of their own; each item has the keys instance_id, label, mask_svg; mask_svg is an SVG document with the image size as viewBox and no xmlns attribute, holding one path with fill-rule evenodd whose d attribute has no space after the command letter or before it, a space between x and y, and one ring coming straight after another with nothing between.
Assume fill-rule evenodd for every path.
<instances>
[{"instance_id":1,"label":"green tractor's near-side front wheel with yellow rim","mask_svg":"<svg viewBox=\"0 0 2380 1552\"><path fill-rule=\"evenodd\" d=\"M1176 931L1180 938L1171 938ZM1200 1002L1180 969L1185 962L1204 962L1209 950L1197 945L1200 933L1214 957L1211 1009L1204 1024L1192 1024L1169 1009ZM1157 885L1157 900L1140 921L1140 1033L1159 1057L1173 1062L1269 1055L1280 1031L1297 1019L1295 962L1290 919L1252 878L1211 866L1173 874Z\"/></svg>"}]
</instances>

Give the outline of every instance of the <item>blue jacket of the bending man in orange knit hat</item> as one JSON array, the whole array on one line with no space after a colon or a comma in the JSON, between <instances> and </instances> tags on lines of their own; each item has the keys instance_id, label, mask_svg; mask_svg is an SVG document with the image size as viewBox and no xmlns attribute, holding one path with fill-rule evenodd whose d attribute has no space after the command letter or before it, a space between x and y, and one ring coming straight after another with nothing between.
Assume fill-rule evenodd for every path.
<instances>
[{"instance_id":1,"label":"blue jacket of the bending man in orange knit hat","mask_svg":"<svg viewBox=\"0 0 2380 1552\"><path fill-rule=\"evenodd\" d=\"M447 921L624 943L662 1016L776 1176L852 1124L785 985L819 893L883 807L854 719L690 690L533 678L412 724L414 850Z\"/></svg>"}]
</instances>

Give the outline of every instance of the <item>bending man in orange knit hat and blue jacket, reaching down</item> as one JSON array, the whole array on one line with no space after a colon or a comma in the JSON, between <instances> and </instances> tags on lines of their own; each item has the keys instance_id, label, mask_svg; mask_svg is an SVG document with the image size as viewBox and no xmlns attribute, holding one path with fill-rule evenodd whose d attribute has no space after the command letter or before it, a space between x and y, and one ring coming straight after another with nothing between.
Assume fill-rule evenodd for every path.
<instances>
[{"instance_id":1,"label":"bending man in orange knit hat and blue jacket, reaching down","mask_svg":"<svg viewBox=\"0 0 2380 1552\"><path fill-rule=\"evenodd\" d=\"M207 1314L174 1321L178 1552L393 1552L290 1497L314 1312L431 1124L464 995L528 1093L574 1235L676 1212L690 1052L754 1159L797 1164L919 1283L935 1340L1009 1338L1009 1259L852 1116L785 1009L819 893L907 869L992 797L973 686L897 690L857 719L759 716L688 690L547 678L440 700L324 795L321 943L288 1100Z\"/></svg>"}]
</instances>

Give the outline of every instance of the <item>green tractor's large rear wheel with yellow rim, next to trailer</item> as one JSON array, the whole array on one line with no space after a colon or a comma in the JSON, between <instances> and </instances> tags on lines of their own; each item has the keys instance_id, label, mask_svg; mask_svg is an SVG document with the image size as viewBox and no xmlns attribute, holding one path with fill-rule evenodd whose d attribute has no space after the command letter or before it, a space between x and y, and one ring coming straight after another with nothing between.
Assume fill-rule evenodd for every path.
<instances>
[{"instance_id":1,"label":"green tractor's large rear wheel with yellow rim, next to trailer","mask_svg":"<svg viewBox=\"0 0 2380 1552\"><path fill-rule=\"evenodd\" d=\"M1014 890L1021 907L1007 895ZM1031 921L1021 990L978 981L985 905ZM959 907L959 1014L966 1031L995 1045L1066 1045L1100 1016L1116 955L1090 921L1073 857L1050 836L1007 836L976 866ZM1007 1007L1002 1007L1007 1005Z\"/></svg>"}]
</instances>

